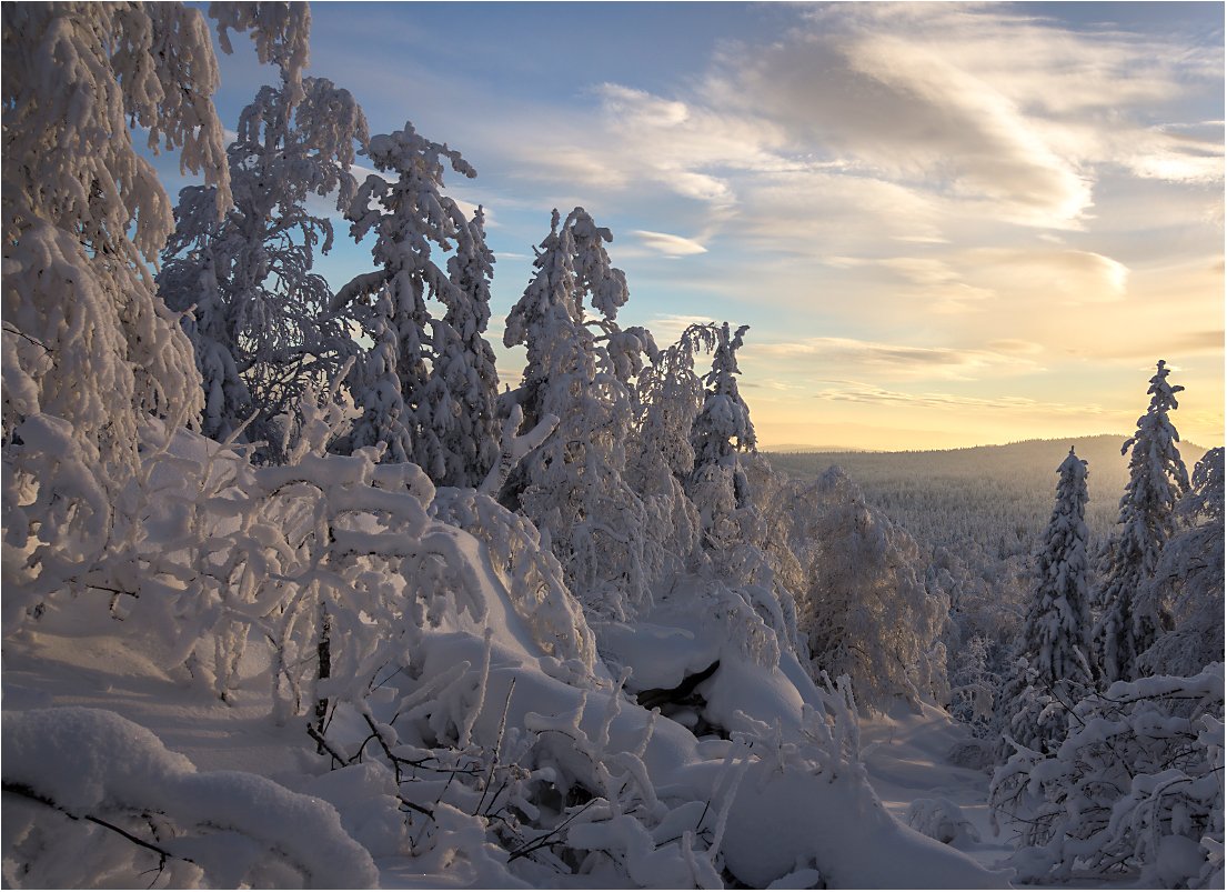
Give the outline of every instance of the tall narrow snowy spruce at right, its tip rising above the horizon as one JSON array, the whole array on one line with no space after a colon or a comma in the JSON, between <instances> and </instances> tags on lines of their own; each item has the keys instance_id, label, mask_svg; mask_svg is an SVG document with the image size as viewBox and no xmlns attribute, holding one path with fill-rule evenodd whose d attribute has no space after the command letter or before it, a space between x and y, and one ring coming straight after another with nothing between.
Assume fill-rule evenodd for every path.
<instances>
[{"instance_id":1,"label":"tall narrow snowy spruce at right, its tip rising above the horizon","mask_svg":"<svg viewBox=\"0 0 1227 892\"><path fill-rule=\"evenodd\" d=\"M1172 618L1157 599L1147 598L1160 556L1175 526L1173 509L1189 488L1189 472L1177 443L1180 434L1168 412L1179 407L1175 395L1184 390L1167 382L1163 359L1150 380L1151 398L1137 431L1120 448L1129 456L1129 482L1120 499L1117 534L1103 562L1099 605L1103 615L1094 627L1094 650L1104 683L1137 677L1137 656L1161 632L1171 631Z\"/></svg>"}]
</instances>

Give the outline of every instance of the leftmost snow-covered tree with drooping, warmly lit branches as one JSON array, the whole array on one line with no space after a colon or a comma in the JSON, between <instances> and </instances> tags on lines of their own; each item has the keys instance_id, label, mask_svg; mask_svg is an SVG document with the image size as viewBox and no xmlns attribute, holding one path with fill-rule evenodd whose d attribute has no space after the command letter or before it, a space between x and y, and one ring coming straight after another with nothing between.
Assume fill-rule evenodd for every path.
<instances>
[{"instance_id":1,"label":"leftmost snow-covered tree with drooping, warmly lit branches","mask_svg":"<svg viewBox=\"0 0 1227 892\"><path fill-rule=\"evenodd\" d=\"M222 12L260 47L292 49L276 25L294 18L288 5ZM171 202L130 128L216 186L215 213L231 191L198 10L13 4L2 42L4 524L21 553L5 572L37 599L113 547L141 423L173 431L201 409L191 344L146 265Z\"/></svg>"}]
</instances>

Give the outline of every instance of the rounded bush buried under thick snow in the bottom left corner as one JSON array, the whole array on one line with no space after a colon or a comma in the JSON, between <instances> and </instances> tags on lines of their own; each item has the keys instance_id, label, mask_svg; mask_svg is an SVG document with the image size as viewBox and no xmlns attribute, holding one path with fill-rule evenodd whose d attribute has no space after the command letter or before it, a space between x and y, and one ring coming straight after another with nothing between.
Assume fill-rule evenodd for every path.
<instances>
[{"instance_id":1,"label":"rounded bush buried under thick snow in the bottom left corner","mask_svg":"<svg viewBox=\"0 0 1227 892\"><path fill-rule=\"evenodd\" d=\"M6 712L6 886L371 888L379 872L313 796L198 772L113 712ZM81 829L77 829L81 828Z\"/></svg>"}]
</instances>

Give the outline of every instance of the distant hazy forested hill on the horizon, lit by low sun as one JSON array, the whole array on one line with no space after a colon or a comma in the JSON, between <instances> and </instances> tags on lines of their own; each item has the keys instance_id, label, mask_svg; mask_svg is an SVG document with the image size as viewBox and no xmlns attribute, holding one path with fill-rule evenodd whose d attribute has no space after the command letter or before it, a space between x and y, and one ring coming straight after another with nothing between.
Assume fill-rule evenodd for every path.
<instances>
[{"instance_id":1,"label":"distant hazy forested hill on the horizon, lit by low sun","mask_svg":"<svg viewBox=\"0 0 1227 892\"><path fill-rule=\"evenodd\" d=\"M1005 445L925 452L771 453L777 471L812 479L838 465L924 546L962 550L977 542L985 550L1020 553L1031 550L1053 509L1056 467L1072 445L1090 470L1087 525L1101 540L1117 523L1120 496L1129 480L1129 456L1120 454L1128 434L1074 439L1028 439ZM1180 444L1189 472L1205 448ZM1004 555L1001 555L1004 556Z\"/></svg>"}]
</instances>

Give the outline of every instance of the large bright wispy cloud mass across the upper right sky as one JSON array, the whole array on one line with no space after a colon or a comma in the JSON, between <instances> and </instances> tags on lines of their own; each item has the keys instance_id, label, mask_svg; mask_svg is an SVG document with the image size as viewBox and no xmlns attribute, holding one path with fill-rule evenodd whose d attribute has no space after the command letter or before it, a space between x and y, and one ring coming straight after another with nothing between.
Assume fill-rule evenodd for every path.
<instances>
[{"instance_id":1,"label":"large bright wispy cloud mass across the upper right sky","mask_svg":"<svg viewBox=\"0 0 1227 892\"><path fill-rule=\"evenodd\" d=\"M780 247L845 217L941 240L953 210L1079 229L1106 167L1221 180L1221 128L1142 114L1221 77L1214 55L1005 9L836 4L775 43L728 47L670 94L600 83L562 139L539 128L547 151L531 136L513 151L533 175L735 209Z\"/></svg>"}]
</instances>

